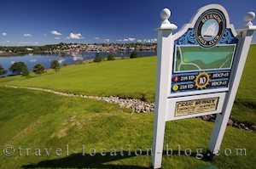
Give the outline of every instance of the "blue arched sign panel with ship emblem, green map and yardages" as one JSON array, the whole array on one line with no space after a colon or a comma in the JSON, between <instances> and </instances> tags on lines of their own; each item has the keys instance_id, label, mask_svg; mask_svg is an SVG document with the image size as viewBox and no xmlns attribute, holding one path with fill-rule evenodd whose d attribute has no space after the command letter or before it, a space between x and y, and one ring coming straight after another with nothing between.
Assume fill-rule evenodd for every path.
<instances>
[{"instance_id":1,"label":"blue arched sign panel with ship emblem, green map and yardages","mask_svg":"<svg viewBox=\"0 0 256 169\"><path fill-rule=\"evenodd\" d=\"M229 87L237 42L221 11L201 14L174 41L171 93Z\"/></svg>"}]
</instances>

